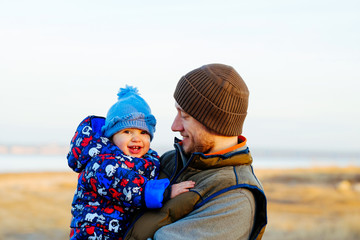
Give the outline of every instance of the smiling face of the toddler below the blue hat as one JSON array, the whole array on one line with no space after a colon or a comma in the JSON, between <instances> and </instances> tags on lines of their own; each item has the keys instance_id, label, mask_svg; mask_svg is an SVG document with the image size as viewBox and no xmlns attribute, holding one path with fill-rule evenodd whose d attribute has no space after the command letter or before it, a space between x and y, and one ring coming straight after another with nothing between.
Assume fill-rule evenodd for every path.
<instances>
[{"instance_id":1,"label":"smiling face of the toddler below the blue hat","mask_svg":"<svg viewBox=\"0 0 360 240\"><path fill-rule=\"evenodd\" d=\"M113 142L126 155L142 157L149 151L150 135L137 128L126 128L113 135Z\"/></svg>"}]
</instances>

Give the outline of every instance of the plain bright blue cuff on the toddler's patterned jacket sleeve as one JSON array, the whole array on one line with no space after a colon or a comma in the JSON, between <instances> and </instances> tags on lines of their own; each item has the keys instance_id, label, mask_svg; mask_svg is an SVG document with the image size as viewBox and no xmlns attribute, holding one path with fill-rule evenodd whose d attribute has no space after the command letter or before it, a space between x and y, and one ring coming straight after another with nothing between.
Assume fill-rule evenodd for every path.
<instances>
[{"instance_id":1,"label":"plain bright blue cuff on the toddler's patterned jacket sleeve","mask_svg":"<svg viewBox=\"0 0 360 240\"><path fill-rule=\"evenodd\" d=\"M167 178L150 180L145 185L145 204L147 208L161 208L164 200L164 192L170 185Z\"/></svg>"}]
</instances>

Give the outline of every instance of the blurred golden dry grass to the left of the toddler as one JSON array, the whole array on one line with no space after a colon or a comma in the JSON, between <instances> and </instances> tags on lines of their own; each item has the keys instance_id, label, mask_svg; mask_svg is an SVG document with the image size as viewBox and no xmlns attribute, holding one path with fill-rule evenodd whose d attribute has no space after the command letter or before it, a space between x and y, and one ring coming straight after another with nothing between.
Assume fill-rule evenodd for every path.
<instances>
[{"instance_id":1,"label":"blurred golden dry grass to the left of the toddler","mask_svg":"<svg viewBox=\"0 0 360 240\"><path fill-rule=\"evenodd\" d=\"M0 239L68 239L73 173L0 175Z\"/></svg>"}]
</instances>

